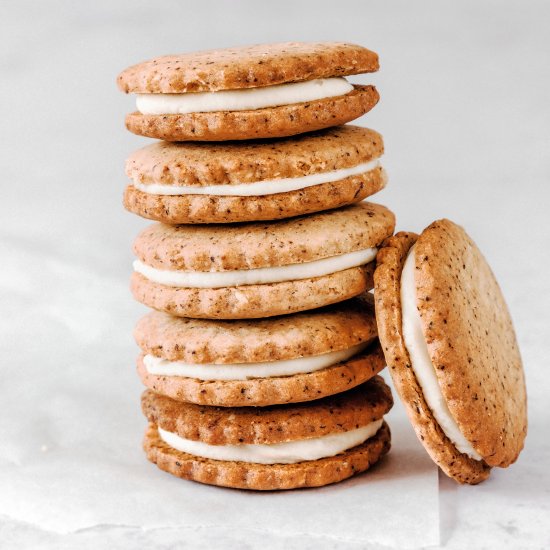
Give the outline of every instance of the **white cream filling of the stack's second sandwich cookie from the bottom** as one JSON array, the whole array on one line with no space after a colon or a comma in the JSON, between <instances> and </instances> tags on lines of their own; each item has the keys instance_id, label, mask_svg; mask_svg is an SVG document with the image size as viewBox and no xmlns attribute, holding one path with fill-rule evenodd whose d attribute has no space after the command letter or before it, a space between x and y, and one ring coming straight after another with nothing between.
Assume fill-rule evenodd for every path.
<instances>
[{"instance_id":1,"label":"white cream filling of the stack's second sandwich cookie from the bottom","mask_svg":"<svg viewBox=\"0 0 550 550\"><path fill-rule=\"evenodd\" d=\"M368 342L364 342L348 349L332 351L312 357L297 357L296 359L266 361L262 363L234 363L229 365L168 361L167 359L147 354L143 358L143 364L149 374L155 375L185 376L198 380L248 380L250 378L272 378L315 372L346 361L363 351L367 346Z\"/></svg>"}]
</instances>

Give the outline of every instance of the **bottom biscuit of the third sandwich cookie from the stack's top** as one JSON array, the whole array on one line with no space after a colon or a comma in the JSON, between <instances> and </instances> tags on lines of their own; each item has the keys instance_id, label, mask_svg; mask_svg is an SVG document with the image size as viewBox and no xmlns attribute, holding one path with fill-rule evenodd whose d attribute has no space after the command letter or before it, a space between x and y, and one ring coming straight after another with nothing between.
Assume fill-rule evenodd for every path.
<instances>
[{"instance_id":1,"label":"bottom biscuit of the third sandwich cookie from the stack's top","mask_svg":"<svg viewBox=\"0 0 550 550\"><path fill-rule=\"evenodd\" d=\"M148 307L177 317L258 319L315 309L372 289L374 262L315 277L223 288L177 288L133 273L130 289Z\"/></svg>"}]
</instances>

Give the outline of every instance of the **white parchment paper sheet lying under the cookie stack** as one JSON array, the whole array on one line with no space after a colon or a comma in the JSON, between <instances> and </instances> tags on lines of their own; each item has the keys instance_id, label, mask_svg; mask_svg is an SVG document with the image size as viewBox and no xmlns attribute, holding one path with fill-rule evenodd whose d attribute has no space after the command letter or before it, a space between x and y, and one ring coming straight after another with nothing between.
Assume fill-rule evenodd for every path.
<instances>
[{"instance_id":1,"label":"white parchment paper sheet lying under the cookie stack","mask_svg":"<svg viewBox=\"0 0 550 550\"><path fill-rule=\"evenodd\" d=\"M398 548L438 543L437 470L398 403L386 459L325 488L220 489L149 464L131 336L144 309L107 245L101 261L79 250L2 241L0 515L59 533L227 526Z\"/></svg>"}]
</instances>

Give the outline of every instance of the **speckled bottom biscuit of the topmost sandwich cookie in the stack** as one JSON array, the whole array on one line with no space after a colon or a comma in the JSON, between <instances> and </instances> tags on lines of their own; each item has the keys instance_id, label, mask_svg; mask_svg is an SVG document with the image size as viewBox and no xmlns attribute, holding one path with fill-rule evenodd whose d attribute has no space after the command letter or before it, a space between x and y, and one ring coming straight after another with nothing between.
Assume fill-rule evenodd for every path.
<instances>
[{"instance_id":1,"label":"speckled bottom biscuit of the topmost sandwich cookie in the stack","mask_svg":"<svg viewBox=\"0 0 550 550\"><path fill-rule=\"evenodd\" d=\"M380 99L374 86L345 95L249 111L126 116L130 132L165 141L229 141L281 138L345 124L368 113Z\"/></svg>"}]
</instances>

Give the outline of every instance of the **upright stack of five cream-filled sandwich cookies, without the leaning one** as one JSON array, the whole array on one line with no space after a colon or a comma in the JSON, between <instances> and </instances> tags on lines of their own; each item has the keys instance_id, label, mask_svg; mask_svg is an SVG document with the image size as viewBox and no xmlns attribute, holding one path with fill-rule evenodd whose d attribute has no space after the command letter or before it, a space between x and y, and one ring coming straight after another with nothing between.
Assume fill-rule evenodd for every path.
<instances>
[{"instance_id":1,"label":"upright stack of five cream-filled sandwich cookies, without the leaning one","mask_svg":"<svg viewBox=\"0 0 550 550\"><path fill-rule=\"evenodd\" d=\"M364 202L386 185L381 136L339 126L378 101L344 77L377 68L360 46L291 43L119 76L138 94L128 129L166 140L130 156L124 194L161 222L136 239L131 282L154 310L135 337L144 448L159 468L291 489L341 481L389 450L365 292L395 218Z\"/></svg>"}]
</instances>

